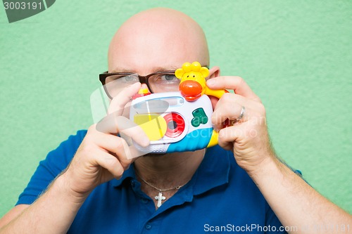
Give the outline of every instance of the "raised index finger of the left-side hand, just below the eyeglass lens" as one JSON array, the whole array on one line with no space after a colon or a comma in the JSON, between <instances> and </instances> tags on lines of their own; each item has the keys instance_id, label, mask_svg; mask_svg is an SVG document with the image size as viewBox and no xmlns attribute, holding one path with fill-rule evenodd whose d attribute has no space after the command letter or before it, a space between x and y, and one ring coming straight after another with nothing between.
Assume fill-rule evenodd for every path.
<instances>
[{"instance_id":1,"label":"raised index finger of the left-side hand, just below the eyeglass lens","mask_svg":"<svg viewBox=\"0 0 352 234\"><path fill-rule=\"evenodd\" d=\"M120 91L120 93L118 93L118 95L111 100L108 108L108 114L115 113L116 115L122 115L126 104L130 102L134 94L138 93L139 89L141 89L141 83L139 82L122 89L122 91Z\"/></svg>"}]
</instances>

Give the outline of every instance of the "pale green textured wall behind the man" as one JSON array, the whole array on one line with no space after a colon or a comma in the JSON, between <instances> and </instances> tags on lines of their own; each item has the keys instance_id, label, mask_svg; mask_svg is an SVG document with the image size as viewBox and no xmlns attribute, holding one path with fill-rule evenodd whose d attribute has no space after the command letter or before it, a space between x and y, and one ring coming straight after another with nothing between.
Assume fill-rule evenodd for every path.
<instances>
[{"instance_id":1,"label":"pale green textured wall behind the man","mask_svg":"<svg viewBox=\"0 0 352 234\"><path fill-rule=\"evenodd\" d=\"M352 212L352 1L120 0L56 1L11 24L0 7L0 216L39 160L92 124L111 37L155 6L203 26L211 65L244 77L265 103L279 156Z\"/></svg>"}]
</instances>

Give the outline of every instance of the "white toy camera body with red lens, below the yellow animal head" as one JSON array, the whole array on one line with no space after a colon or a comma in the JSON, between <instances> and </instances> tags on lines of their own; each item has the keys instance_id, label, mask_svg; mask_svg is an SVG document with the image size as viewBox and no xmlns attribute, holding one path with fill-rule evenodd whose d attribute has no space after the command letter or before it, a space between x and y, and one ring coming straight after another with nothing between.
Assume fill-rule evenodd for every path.
<instances>
[{"instance_id":1,"label":"white toy camera body with red lens, below the yellow animal head","mask_svg":"<svg viewBox=\"0 0 352 234\"><path fill-rule=\"evenodd\" d=\"M153 153L193 151L216 145L218 133L211 124L212 114L208 96L189 102L180 92L139 96L132 100L130 108L130 120L141 126L151 141L142 149Z\"/></svg>"}]
</instances>

